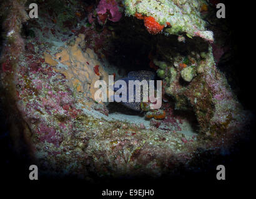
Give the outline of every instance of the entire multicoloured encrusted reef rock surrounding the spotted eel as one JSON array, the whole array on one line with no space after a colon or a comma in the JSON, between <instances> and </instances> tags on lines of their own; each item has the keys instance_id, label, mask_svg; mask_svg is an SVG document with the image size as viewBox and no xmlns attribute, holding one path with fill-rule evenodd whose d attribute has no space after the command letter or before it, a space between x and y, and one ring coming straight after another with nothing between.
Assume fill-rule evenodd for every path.
<instances>
[{"instance_id":1,"label":"entire multicoloured encrusted reef rock surrounding the spotted eel","mask_svg":"<svg viewBox=\"0 0 256 199\"><path fill-rule=\"evenodd\" d=\"M25 142L45 174L172 175L204 162L198 160L204 152L214 157L232 150L244 136L250 118L216 67L214 34L201 13L207 1L111 0L113 12L109 4L104 9L107 1L36 1L39 19L27 16L30 2L2 4L8 12L2 11L1 100L17 150ZM109 21L96 20L106 13ZM162 80L163 104L145 114L150 126L136 117L133 123L113 118L111 111L134 113L94 99L94 83L108 75L140 80L152 74ZM187 133L189 121L196 127Z\"/></svg>"}]
</instances>

